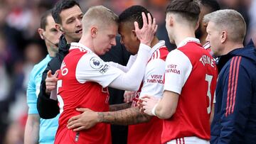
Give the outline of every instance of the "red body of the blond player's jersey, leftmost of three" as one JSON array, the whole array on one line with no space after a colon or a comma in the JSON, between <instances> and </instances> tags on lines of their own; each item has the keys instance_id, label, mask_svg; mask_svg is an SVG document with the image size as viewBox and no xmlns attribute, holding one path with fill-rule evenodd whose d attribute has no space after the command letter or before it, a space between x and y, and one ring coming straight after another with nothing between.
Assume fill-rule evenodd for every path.
<instances>
[{"instance_id":1,"label":"red body of the blond player's jersey, leftmost of three","mask_svg":"<svg viewBox=\"0 0 256 144\"><path fill-rule=\"evenodd\" d=\"M82 82L78 79L78 62L81 57L86 57L87 52L79 45L72 45L69 54L64 58L58 77L58 101L60 105L59 127L55 136L55 143L111 143L110 125L97 123L94 127L80 132L74 132L67 128L68 119L77 116L80 112L76 108L89 108L92 111L109 111L109 94L107 88L103 88L96 82ZM95 57L90 63L97 69L100 62Z\"/></svg>"}]
</instances>

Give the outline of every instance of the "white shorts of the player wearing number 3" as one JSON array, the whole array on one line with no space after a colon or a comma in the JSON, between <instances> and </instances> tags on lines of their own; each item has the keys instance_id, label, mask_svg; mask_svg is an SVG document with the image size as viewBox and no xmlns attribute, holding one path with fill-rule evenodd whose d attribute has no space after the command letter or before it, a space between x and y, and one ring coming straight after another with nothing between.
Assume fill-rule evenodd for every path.
<instances>
[{"instance_id":1,"label":"white shorts of the player wearing number 3","mask_svg":"<svg viewBox=\"0 0 256 144\"><path fill-rule=\"evenodd\" d=\"M203 140L196 136L177 138L167 142L166 144L210 144L209 140Z\"/></svg>"}]
</instances>

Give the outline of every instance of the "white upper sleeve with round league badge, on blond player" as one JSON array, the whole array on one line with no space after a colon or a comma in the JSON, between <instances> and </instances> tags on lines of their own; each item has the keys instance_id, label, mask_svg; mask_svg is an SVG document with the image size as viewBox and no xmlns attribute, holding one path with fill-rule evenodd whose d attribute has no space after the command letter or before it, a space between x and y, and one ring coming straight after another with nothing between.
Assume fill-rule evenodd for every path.
<instances>
[{"instance_id":1,"label":"white upper sleeve with round league badge, on blond player","mask_svg":"<svg viewBox=\"0 0 256 144\"><path fill-rule=\"evenodd\" d=\"M82 84L85 82L97 82L102 87L107 87L122 73L124 73L122 70L107 65L94 53L87 53L78 61L75 77Z\"/></svg>"}]
</instances>

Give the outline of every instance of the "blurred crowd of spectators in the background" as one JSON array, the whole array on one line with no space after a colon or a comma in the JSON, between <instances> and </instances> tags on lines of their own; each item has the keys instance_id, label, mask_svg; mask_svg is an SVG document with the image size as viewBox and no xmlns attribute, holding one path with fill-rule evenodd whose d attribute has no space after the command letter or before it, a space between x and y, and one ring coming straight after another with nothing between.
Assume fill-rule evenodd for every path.
<instances>
[{"instance_id":1,"label":"blurred crowd of spectators in the background","mask_svg":"<svg viewBox=\"0 0 256 144\"><path fill-rule=\"evenodd\" d=\"M26 87L33 65L46 56L39 37L41 13L57 0L0 0L0 143L21 144L26 124ZM165 9L171 0L80 0L82 11L103 5L117 15L132 5L145 6L159 25L157 35L166 40ZM256 0L219 0L222 9L235 9L247 23L247 37L256 39ZM256 40L255 40L256 41Z\"/></svg>"}]
</instances>

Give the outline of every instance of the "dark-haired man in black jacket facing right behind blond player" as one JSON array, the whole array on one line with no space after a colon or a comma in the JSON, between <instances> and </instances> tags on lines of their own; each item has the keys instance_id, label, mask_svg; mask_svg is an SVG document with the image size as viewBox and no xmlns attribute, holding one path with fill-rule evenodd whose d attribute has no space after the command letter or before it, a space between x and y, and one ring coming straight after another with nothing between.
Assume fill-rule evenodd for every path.
<instances>
[{"instance_id":1,"label":"dark-haired man in black jacket facing right behind blond player","mask_svg":"<svg viewBox=\"0 0 256 144\"><path fill-rule=\"evenodd\" d=\"M46 76L48 71L52 74L60 69L61 62L65 55L68 54L70 43L78 42L82 34L82 11L80 5L75 0L58 1L53 8L53 18L57 23L56 28L62 31L63 35L60 38L59 52L56 57L48 63L46 70L43 72L41 89L38 94L37 108L41 118L54 118L60 113L58 101L50 99L50 92L46 90ZM129 52L119 43L117 37L117 45L101 58L105 61L117 62L120 65L126 65L129 60ZM109 89L110 104L119 104L123 101L124 92L117 89ZM113 133L113 130L115 131ZM112 126L112 142L126 143L127 128L124 126Z\"/></svg>"}]
</instances>

